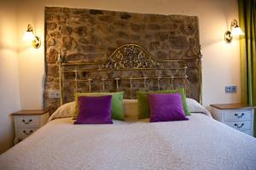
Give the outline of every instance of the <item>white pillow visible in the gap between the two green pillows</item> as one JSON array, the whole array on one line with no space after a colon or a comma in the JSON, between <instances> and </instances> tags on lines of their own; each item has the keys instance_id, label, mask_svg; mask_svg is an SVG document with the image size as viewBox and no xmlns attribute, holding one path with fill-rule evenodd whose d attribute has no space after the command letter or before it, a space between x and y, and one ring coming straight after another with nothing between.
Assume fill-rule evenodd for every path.
<instances>
[{"instance_id":1,"label":"white pillow visible in the gap between the two green pillows","mask_svg":"<svg viewBox=\"0 0 256 170\"><path fill-rule=\"evenodd\" d=\"M137 118L137 99L123 99L123 114L125 117Z\"/></svg>"}]
</instances>

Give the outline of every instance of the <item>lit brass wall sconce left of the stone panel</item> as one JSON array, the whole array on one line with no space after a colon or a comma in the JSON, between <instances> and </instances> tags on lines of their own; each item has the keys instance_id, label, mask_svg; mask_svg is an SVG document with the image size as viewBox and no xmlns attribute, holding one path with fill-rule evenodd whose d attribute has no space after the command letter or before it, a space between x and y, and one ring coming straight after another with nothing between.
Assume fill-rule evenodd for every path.
<instances>
[{"instance_id":1,"label":"lit brass wall sconce left of the stone panel","mask_svg":"<svg viewBox=\"0 0 256 170\"><path fill-rule=\"evenodd\" d=\"M32 42L33 48L39 48L41 46L41 40L38 36L34 35L33 27L31 24L27 26L27 30L24 33L22 40Z\"/></svg>"}]
</instances>

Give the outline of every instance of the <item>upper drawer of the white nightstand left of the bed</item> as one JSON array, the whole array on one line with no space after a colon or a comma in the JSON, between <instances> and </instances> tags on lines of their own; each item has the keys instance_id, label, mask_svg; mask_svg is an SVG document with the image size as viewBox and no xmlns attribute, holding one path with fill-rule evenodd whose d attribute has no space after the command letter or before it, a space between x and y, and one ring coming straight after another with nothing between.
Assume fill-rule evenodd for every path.
<instances>
[{"instance_id":1,"label":"upper drawer of the white nightstand left of the bed","mask_svg":"<svg viewBox=\"0 0 256 170\"><path fill-rule=\"evenodd\" d=\"M39 127L39 116L15 116L15 124L17 127Z\"/></svg>"}]
</instances>

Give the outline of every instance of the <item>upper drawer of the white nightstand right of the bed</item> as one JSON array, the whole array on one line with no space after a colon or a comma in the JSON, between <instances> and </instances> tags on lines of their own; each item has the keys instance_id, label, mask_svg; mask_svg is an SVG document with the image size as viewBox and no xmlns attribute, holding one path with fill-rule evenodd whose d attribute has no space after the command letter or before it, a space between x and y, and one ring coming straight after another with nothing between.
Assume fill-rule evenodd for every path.
<instances>
[{"instance_id":1,"label":"upper drawer of the white nightstand right of the bed","mask_svg":"<svg viewBox=\"0 0 256 170\"><path fill-rule=\"evenodd\" d=\"M252 111L236 110L224 111L224 121L250 121L252 120Z\"/></svg>"}]
</instances>

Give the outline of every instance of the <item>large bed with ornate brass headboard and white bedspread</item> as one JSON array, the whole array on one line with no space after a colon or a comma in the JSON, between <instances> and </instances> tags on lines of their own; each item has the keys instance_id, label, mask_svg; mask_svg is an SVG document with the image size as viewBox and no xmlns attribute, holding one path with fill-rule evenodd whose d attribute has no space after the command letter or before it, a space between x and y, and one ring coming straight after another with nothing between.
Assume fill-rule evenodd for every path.
<instances>
[{"instance_id":1,"label":"large bed with ornate brass headboard and white bedspread","mask_svg":"<svg viewBox=\"0 0 256 170\"><path fill-rule=\"evenodd\" d=\"M201 101L201 54L161 60L136 44L95 63L59 56L60 103L49 122L0 156L0 169L256 169L256 139L212 119ZM137 119L137 90L183 87L188 121ZM74 125L73 94L125 91L125 121ZM110 105L110 104L109 104Z\"/></svg>"}]
</instances>

